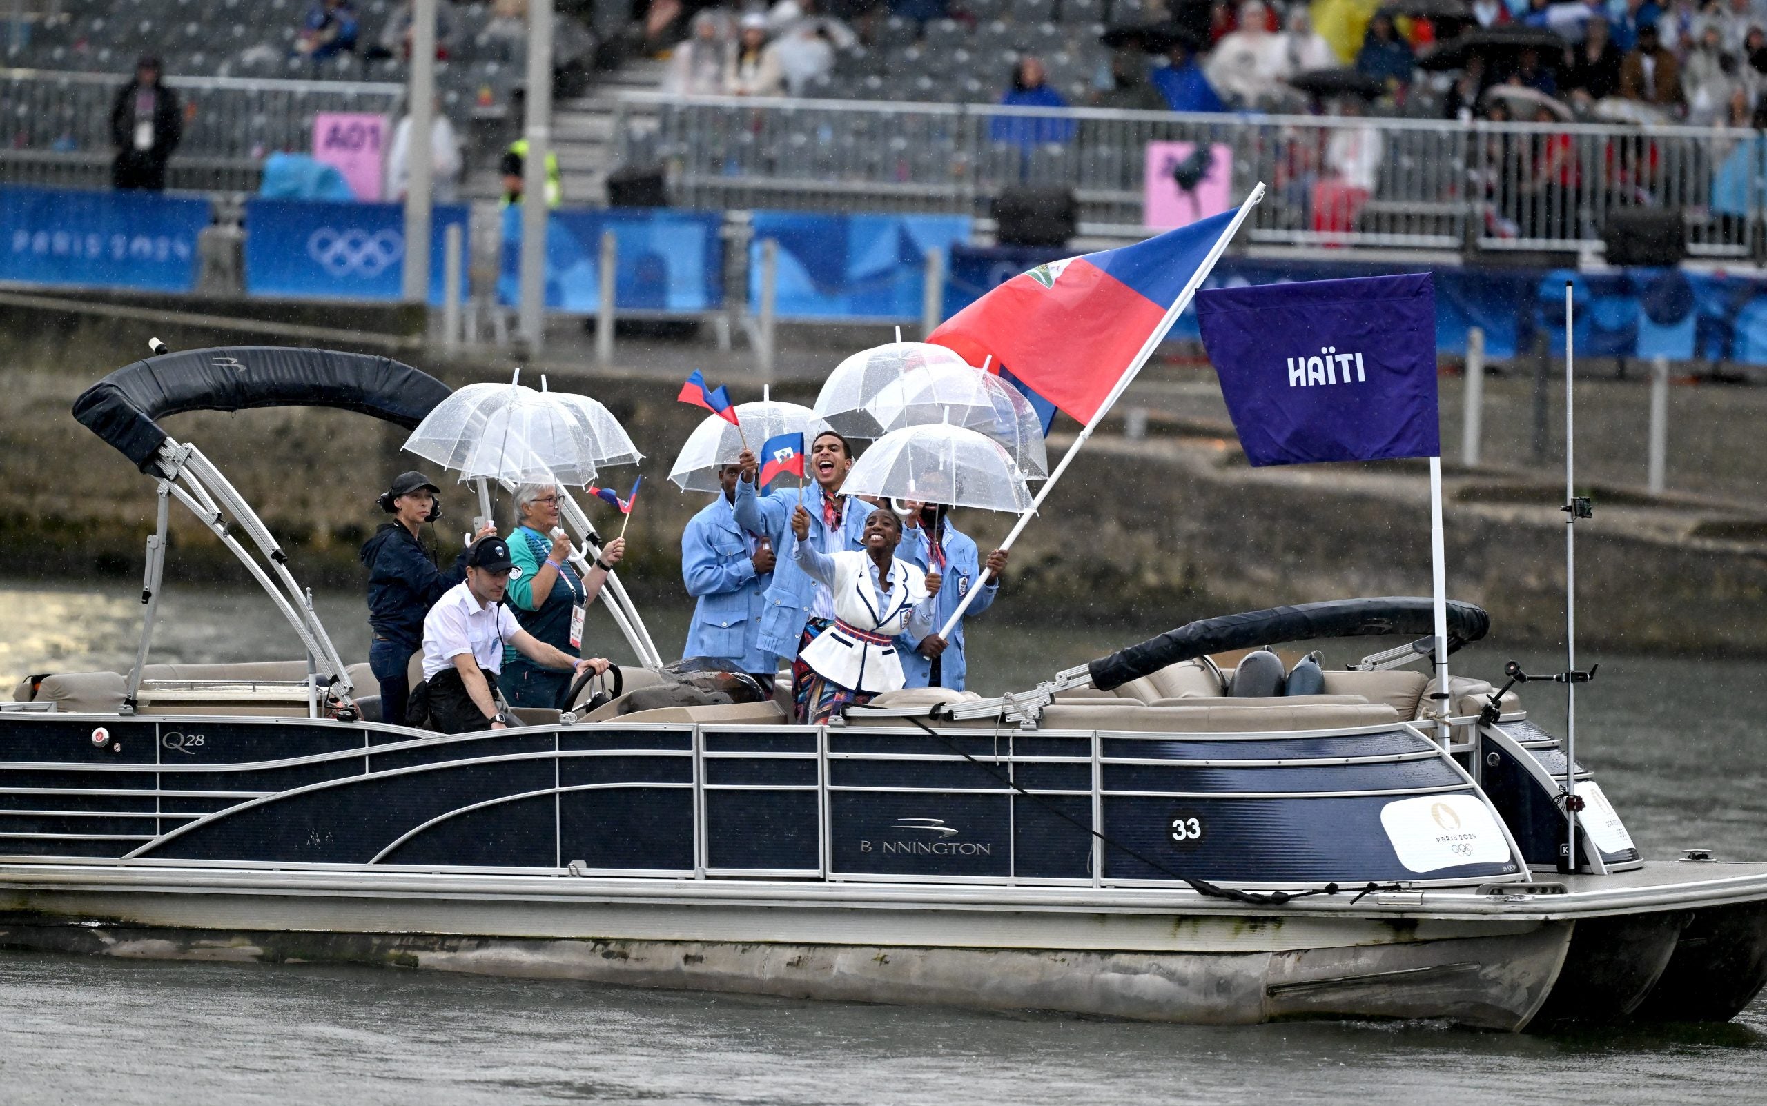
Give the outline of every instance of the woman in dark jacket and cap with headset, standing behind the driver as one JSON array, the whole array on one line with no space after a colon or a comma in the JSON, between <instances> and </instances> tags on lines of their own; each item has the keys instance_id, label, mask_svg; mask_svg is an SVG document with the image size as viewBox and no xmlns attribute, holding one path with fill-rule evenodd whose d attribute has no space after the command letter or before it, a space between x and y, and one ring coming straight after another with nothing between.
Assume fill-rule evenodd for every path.
<instances>
[{"instance_id":1,"label":"woman in dark jacket and cap with headset, standing behind the driver","mask_svg":"<svg viewBox=\"0 0 1767 1106\"><path fill-rule=\"evenodd\" d=\"M375 502L392 516L373 537L362 542L362 564L368 565L368 624L373 640L368 647L368 666L380 682L380 719L405 724L405 705L412 686L405 671L412 654L424 648L424 615L451 587L466 578L466 551L461 549L454 565L444 572L429 549L417 541L417 528L442 518L442 489L421 472L401 472L392 488ZM486 523L474 537L497 534Z\"/></svg>"}]
</instances>

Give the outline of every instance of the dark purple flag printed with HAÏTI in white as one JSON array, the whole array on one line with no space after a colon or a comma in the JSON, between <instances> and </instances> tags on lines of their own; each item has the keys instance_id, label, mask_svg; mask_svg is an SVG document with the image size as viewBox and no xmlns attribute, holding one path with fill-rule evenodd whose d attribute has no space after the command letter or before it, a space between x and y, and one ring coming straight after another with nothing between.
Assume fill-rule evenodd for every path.
<instances>
[{"instance_id":1,"label":"dark purple flag printed with HA\u00cfTI in white","mask_svg":"<svg viewBox=\"0 0 1767 1106\"><path fill-rule=\"evenodd\" d=\"M1428 272L1200 292L1196 322L1253 465L1440 456Z\"/></svg>"}]
</instances>

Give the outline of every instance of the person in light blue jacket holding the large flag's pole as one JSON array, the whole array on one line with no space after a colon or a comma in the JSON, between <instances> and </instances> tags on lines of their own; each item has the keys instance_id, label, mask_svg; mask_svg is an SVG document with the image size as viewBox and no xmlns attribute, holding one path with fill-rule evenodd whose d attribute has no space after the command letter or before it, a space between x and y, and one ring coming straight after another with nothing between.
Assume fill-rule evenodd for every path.
<instances>
[{"instance_id":1,"label":"person in light blue jacket holding the large flag's pole","mask_svg":"<svg viewBox=\"0 0 1767 1106\"><path fill-rule=\"evenodd\" d=\"M896 557L944 576L945 583L933 597L937 611L933 633L937 634L968 590L977 587L982 562L975 541L951 525L949 507L910 505L917 507L917 512L908 516L908 528L903 530ZM982 594L970 602L970 610L963 611L965 618L981 615L993 606L995 595L1000 594L1000 574L1005 571L1005 549L990 553L986 564L988 583L982 587ZM937 636L924 641L908 641L906 638L896 641L908 687L967 689L968 661L963 654L963 622L952 627L949 641L940 641Z\"/></svg>"}]
</instances>

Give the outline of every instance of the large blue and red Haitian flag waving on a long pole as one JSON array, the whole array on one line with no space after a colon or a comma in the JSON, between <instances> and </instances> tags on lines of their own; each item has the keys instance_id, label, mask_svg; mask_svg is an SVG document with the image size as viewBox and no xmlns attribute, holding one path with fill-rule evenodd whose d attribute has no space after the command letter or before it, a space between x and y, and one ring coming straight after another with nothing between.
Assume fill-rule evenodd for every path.
<instances>
[{"instance_id":1,"label":"large blue and red Haitian flag waving on a long pole","mask_svg":"<svg viewBox=\"0 0 1767 1106\"><path fill-rule=\"evenodd\" d=\"M1237 212L1122 249L1037 265L956 313L928 341L1090 422L1179 295L1209 265Z\"/></svg>"}]
</instances>

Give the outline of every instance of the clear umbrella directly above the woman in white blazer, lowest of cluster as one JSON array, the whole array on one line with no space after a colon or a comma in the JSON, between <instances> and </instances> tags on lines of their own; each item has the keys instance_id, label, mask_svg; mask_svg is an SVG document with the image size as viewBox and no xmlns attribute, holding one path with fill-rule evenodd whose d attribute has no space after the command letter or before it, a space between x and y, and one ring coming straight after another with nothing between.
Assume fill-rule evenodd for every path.
<instances>
[{"instance_id":1,"label":"clear umbrella directly above the woman in white blazer, lowest of cluster","mask_svg":"<svg viewBox=\"0 0 1767 1106\"><path fill-rule=\"evenodd\" d=\"M841 482L841 495L1025 511L1030 488L1004 445L965 426L905 426L878 438Z\"/></svg>"}]
</instances>

